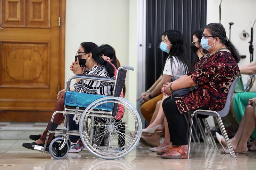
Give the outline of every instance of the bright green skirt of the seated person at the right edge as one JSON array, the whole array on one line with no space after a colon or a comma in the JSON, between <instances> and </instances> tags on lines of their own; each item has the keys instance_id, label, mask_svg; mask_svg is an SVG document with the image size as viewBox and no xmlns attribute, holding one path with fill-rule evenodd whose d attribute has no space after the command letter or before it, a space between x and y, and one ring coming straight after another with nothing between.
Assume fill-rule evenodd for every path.
<instances>
[{"instance_id":1,"label":"bright green skirt of the seated person at the right edge","mask_svg":"<svg viewBox=\"0 0 256 170\"><path fill-rule=\"evenodd\" d=\"M241 92L235 93L233 98L233 108L238 122L241 122L244 116L245 107L248 104L249 99L256 97L256 92ZM252 132L252 138L255 138L255 129Z\"/></svg>"}]
</instances>

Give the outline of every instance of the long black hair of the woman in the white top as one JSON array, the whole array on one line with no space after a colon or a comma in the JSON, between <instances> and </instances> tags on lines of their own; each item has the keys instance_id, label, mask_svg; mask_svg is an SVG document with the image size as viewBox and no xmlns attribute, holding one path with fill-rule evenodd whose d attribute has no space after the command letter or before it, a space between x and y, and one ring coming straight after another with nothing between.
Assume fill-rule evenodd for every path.
<instances>
[{"instance_id":1,"label":"long black hair of the woman in the white top","mask_svg":"<svg viewBox=\"0 0 256 170\"><path fill-rule=\"evenodd\" d=\"M185 50L182 34L179 31L171 30L164 34L164 36L166 35L169 41L171 41L172 43L172 46L169 52L169 55L170 55L169 57L171 58L171 65L173 62L173 57L176 57L178 62L180 62L180 64L183 65L183 67L185 68L185 71L188 72L188 58L185 52L186 50Z\"/></svg>"}]
</instances>

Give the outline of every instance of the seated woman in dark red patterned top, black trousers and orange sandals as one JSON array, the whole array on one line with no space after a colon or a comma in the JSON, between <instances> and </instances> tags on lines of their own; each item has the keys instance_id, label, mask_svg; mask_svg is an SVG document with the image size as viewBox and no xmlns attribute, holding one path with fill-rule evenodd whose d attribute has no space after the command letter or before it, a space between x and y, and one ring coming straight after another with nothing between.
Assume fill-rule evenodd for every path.
<instances>
[{"instance_id":1,"label":"seated woman in dark red patterned top, black trousers and orange sandals","mask_svg":"<svg viewBox=\"0 0 256 170\"><path fill-rule=\"evenodd\" d=\"M184 113L197 109L220 111L227 100L230 85L240 76L237 65L240 55L220 23L205 26L201 44L209 53L201 58L195 69L162 88L164 95L171 95L175 90L198 86L186 95L168 97L163 101L173 145L173 149L162 155L165 159L187 158L188 124Z\"/></svg>"}]
</instances>

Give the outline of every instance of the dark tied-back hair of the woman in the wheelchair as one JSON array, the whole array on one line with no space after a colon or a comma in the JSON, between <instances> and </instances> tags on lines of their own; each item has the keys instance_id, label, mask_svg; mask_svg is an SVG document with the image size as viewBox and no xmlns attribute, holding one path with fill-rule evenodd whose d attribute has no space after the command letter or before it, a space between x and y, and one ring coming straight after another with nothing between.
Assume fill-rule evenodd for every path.
<instances>
[{"instance_id":1,"label":"dark tied-back hair of the woman in the wheelchair","mask_svg":"<svg viewBox=\"0 0 256 170\"><path fill-rule=\"evenodd\" d=\"M114 68L108 61L100 57L100 48L93 42L82 42L80 44L84 48L84 52L92 53L93 60L100 66L104 66L109 74L109 77L114 77Z\"/></svg>"}]
</instances>

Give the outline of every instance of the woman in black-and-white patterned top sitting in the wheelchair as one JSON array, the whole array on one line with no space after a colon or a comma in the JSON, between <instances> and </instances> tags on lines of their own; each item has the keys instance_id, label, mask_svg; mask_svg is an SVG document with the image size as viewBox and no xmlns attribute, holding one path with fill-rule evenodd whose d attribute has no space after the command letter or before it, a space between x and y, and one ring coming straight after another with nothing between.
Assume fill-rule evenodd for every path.
<instances>
[{"instance_id":1,"label":"woman in black-and-white patterned top sitting in the wheelchair","mask_svg":"<svg viewBox=\"0 0 256 170\"><path fill-rule=\"evenodd\" d=\"M72 65L70 65L70 70L72 70L74 74L92 74L115 79L113 66L100 57L100 48L96 44L92 42L82 42L78 47L76 56L77 61L72 62ZM74 84L75 92L89 94L112 96L112 89L114 89L113 83L96 82L91 80L83 80L82 83L82 80L77 79L76 83ZM63 109L64 98L57 100L54 112L62 111ZM53 119L53 123L55 125L54 128L57 128L57 126L60 125L62 121L63 114L56 114ZM72 122L74 123L74 121ZM22 146L28 149L34 149L34 145L43 146L46 140L49 124L50 123L48 123L48 126L46 127L43 134L33 136L33 139L36 140L35 142L23 143ZM48 144L51 142L53 135L53 133L50 133L47 142ZM31 138L31 136L29 138Z\"/></svg>"}]
</instances>

